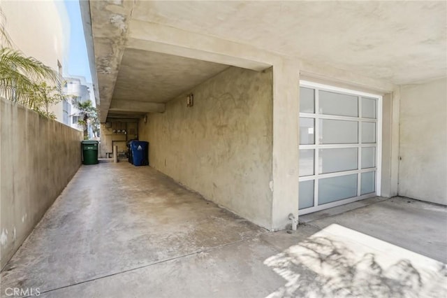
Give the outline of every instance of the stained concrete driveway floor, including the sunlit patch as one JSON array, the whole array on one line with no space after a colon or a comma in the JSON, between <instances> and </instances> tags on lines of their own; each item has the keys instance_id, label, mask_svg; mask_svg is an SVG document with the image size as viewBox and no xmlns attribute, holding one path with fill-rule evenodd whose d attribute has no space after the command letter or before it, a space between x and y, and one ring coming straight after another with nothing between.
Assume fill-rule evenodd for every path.
<instances>
[{"instance_id":1,"label":"stained concrete driveway floor, including the sunlit patch","mask_svg":"<svg viewBox=\"0 0 447 298\"><path fill-rule=\"evenodd\" d=\"M148 166L82 166L1 295L447 297L446 207L373 198L300 222L268 232Z\"/></svg>"}]
</instances>

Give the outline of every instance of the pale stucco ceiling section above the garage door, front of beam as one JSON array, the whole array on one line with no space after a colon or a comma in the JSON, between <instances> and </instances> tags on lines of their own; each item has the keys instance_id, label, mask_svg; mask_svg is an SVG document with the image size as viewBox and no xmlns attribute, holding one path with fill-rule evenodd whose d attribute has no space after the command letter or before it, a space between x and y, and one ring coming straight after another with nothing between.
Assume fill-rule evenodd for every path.
<instances>
[{"instance_id":1,"label":"pale stucco ceiling section above the garage door, front of beam","mask_svg":"<svg viewBox=\"0 0 447 298\"><path fill-rule=\"evenodd\" d=\"M446 1L138 1L132 18L397 85L446 76Z\"/></svg>"}]
</instances>

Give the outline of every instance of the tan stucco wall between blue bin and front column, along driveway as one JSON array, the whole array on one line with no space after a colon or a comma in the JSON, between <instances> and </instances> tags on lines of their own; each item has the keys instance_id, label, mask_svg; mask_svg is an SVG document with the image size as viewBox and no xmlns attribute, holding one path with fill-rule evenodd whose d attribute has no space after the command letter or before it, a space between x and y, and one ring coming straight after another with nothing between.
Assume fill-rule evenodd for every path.
<instances>
[{"instance_id":1,"label":"tan stucco wall between blue bin and front column, along driveway","mask_svg":"<svg viewBox=\"0 0 447 298\"><path fill-rule=\"evenodd\" d=\"M149 163L248 220L271 227L272 71L230 67L140 120Z\"/></svg>"}]
</instances>

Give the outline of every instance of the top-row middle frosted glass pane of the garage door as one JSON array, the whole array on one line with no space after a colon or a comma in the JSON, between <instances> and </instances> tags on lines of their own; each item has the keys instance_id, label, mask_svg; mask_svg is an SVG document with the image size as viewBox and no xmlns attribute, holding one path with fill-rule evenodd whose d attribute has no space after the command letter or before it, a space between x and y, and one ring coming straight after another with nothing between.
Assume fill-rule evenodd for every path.
<instances>
[{"instance_id":1,"label":"top-row middle frosted glass pane of the garage door","mask_svg":"<svg viewBox=\"0 0 447 298\"><path fill-rule=\"evenodd\" d=\"M358 117L358 97L328 91L319 95L321 114Z\"/></svg>"}]
</instances>

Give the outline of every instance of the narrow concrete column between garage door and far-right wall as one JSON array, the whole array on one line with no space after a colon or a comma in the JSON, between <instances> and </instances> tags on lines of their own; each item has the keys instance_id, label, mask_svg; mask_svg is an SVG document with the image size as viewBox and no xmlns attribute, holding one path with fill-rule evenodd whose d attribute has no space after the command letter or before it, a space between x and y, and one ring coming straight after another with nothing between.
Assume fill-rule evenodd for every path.
<instances>
[{"instance_id":1,"label":"narrow concrete column between garage door and far-right wall","mask_svg":"<svg viewBox=\"0 0 447 298\"><path fill-rule=\"evenodd\" d=\"M400 89L383 96L381 196L397 196L399 179Z\"/></svg>"}]
</instances>

